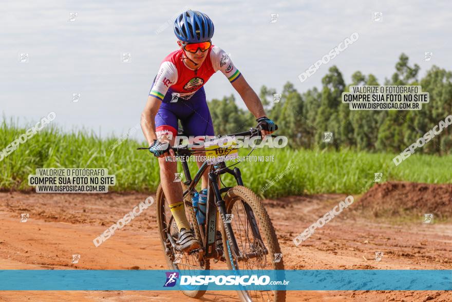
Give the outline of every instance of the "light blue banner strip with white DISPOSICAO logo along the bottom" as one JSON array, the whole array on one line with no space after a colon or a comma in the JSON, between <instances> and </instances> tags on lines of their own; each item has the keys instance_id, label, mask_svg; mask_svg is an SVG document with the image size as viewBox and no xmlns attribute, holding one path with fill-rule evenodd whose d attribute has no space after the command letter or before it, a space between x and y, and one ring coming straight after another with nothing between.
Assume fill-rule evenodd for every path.
<instances>
[{"instance_id":1,"label":"light blue banner strip with white DISPOSICAO logo along the bottom","mask_svg":"<svg viewBox=\"0 0 452 302\"><path fill-rule=\"evenodd\" d=\"M0 270L0 291L449 291L452 270Z\"/></svg>"}]
</instances>

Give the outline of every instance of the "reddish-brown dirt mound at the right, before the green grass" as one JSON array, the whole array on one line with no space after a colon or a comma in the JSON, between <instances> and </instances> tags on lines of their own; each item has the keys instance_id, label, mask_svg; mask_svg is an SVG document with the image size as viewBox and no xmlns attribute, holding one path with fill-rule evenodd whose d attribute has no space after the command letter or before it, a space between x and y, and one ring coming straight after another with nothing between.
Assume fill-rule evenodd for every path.
<instances>
[{"instance_id":1,"label":"reddish-brown dirt mound at the right, before the green grass","mask_svg":"<svg viewBox=\"0 0 452 302\"><path fill-rule=\"evenodd\" d=\"M452 218L452 184L387 182L375 184L360 200L359 209L374 217L420 216Z\"/></svg>"}]
</instances>

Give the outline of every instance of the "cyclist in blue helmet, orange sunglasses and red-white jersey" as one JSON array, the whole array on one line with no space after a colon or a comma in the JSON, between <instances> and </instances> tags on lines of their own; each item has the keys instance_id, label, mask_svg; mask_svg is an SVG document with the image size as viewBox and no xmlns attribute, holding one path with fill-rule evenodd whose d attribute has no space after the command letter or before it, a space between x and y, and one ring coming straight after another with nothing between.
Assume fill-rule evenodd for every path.
<instances>
[{"instance_id":1,"label":"cyclist in blue helmet, orange sunglasses and red-white jersey","mask_svg":"<svg viewBox=\"0 0 452 302\"><path fill-rule=\"evenodd\" d=\"M179 230L178 249L190 252L199 248L200 242L185 216L180 182L174 182L177 163L165 160L167 152L174 156L170 145L174 145L177 136L178 120L187 136L214 135L203 85L220 70L257 118L263 135L272 133L276 124L266 117L257 94L229 56L212 45L214 24L206 14L192 10L181 13L174 22L174 33L179 49L166 56L160 65L141 114L141 128L149 143L149 151L158 157L163 192ZM202 162L197 164L200 167ZM194 205L198 203L195 210L200 223L202 214L205 218L207 185L206 171L201 180L202 190L193 199Z\"/></svg>"}]
</instances>

